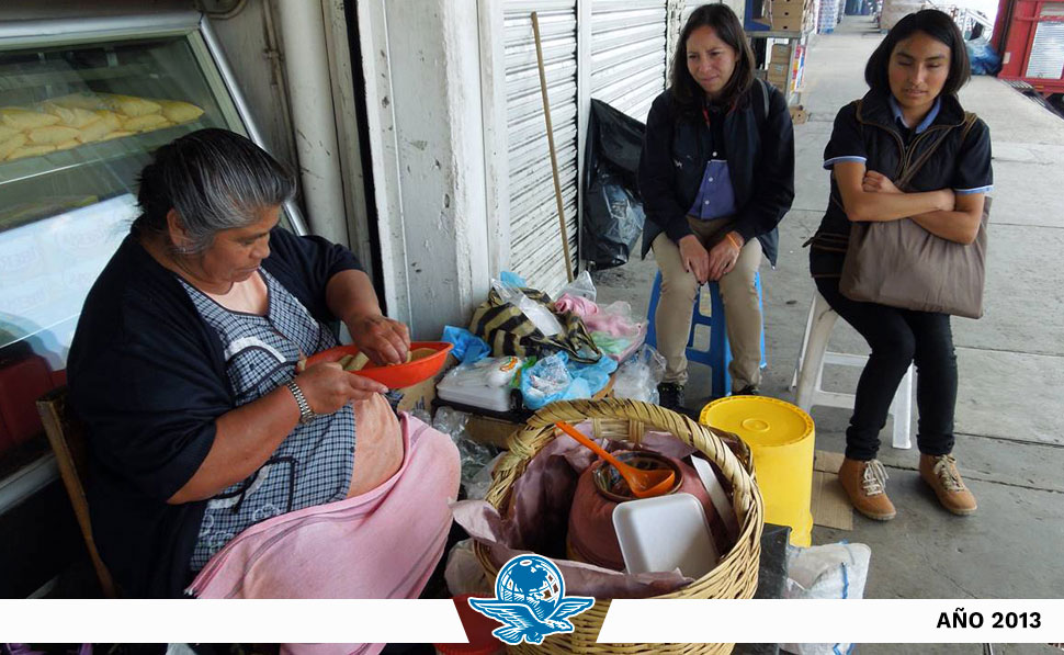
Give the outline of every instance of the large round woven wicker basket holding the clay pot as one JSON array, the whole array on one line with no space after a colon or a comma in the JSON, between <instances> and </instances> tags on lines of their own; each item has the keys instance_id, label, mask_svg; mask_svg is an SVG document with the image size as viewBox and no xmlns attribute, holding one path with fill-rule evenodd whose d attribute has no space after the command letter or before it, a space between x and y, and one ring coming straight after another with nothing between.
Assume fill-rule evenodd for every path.
<instances>
[{"instance_id":1,"label":"large round woven wicker basket holding the clay pot","mask_svg":"<svg viewBox=\"0 0 1064 655\"><path fill-rule=\"evenodd\" d=\"M635 400L575 400L547 405L529 419L524 428L510 438L510 452L496 466L487 501L506 516L510 504L510 488L524 473L532 458L554 439L554 424L559 420L578 422L591 419L597 438L638 443L646 429L676 434L684 443L694 447L715 462L734 489L739 534L735 546L721 563L705 576L687 587L655 598L752 598L757 589L757 572L761 557L761 529L763 505L754 484L752 475L714 432L693 420ZM498 575L498 568L488 557L480 543L474 545L477 560L489 578ZM508 647L510 653L731 653L734 644L598 644L599 630L610 609L609 600L599 600L595 607L573 617L576 630L570 634L554 634L540 645L521 643Z\"/></svg>"}]
</instances>

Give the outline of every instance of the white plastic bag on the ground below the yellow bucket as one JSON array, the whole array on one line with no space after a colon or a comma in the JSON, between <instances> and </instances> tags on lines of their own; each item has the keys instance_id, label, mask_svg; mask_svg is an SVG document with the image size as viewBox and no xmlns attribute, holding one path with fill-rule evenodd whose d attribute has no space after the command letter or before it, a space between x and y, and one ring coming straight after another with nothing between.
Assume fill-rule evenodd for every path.
<instances>
[{"instance_id":1,"label":"white plastic bag on the ground below the yellow bucket","mask_svg":"<svg viewBox=\"0 0 1064 655\"><path fill-rule=\"evenodd\" d=\"M872 549L863 543L829 543L810 549L786 549L784 598L864 597ZM845 655L853 644L783 644L796 655Z\"/></svg>"}]
</instances>

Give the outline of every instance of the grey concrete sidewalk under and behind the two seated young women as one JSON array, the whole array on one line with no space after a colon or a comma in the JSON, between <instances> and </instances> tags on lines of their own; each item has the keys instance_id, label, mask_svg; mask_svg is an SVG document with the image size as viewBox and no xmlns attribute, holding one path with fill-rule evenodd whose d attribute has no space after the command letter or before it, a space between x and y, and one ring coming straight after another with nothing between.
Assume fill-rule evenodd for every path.
<instances>
[{"instance_id":1,"label":"grey concrete sidewalk under and behind the two seated young women","mask_svg":"<svg viewBox=\"0 0 1064 655\"><path fill-rule=\"evenodd\" d=\"M802 98L812 112L795 127L796 197L780 226L776 270L762 267L767 395L793 400L788 388L801 348L814 285L800 245L819 225L828 199L824 146L836 112L867 91L864 63L882 35L863 16L848 18L815 38ZM898 509L887 523L854 513L853 531L816 527L814 543L867 543L869 598L1049 598L1064 595L1064 121L994 78L978 77L961 93L965 109L991 127L995 191L989 234L986 315L953 320L960 369L955 454L980 501L974 517L941 509L916 472L918 452L894 450L891 424L880 459ZM625 300L645 312L656 266L652 259L595 275L602 302ZM838 321L830 350L868 353ZM692 368L688 402L708 400L703 370ZM829 368L826 385L852 393L858 371ZM914 402L915 414L915 402ZM816 407L816 448L842 452L849 411ZM916 417L913 421L915 443ZM917 652L868 645L863 653ZM977 645L918 647L922 653L977 653ZM998 652L1003 652L1000 648ZM1008 653L1060 653L1012 646Z\"/></svg>"}]
</instances>

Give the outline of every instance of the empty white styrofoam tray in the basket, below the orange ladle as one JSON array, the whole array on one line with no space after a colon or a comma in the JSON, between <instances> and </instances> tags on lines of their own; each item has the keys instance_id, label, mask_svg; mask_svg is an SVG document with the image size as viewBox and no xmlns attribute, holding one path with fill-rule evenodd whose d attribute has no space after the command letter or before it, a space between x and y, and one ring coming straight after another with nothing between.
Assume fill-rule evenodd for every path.
<instances>
[{"instance_id":1,"label":"empty white styrofoam tray in the basket, below the orange ladle","mask_svg":"<svg viewBox=\"0 0 1064 655\"><path fill-rule=\"evenodd\" d=\"M620 502L613 529L629 573L680 569L700 578L716 566L705 511L690 494L670 494Z\"/></svg>"}]
</instances>

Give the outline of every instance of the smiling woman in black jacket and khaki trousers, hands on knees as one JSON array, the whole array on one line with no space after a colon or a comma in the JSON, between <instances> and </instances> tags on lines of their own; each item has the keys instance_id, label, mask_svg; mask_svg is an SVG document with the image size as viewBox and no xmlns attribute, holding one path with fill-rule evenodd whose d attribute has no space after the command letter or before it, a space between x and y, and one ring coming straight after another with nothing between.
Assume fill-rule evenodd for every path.
<instances>
[{"instance_id":1,"label":"smiling woman in black jacket and khaki trousers, hands on knees","mask_svg":"<svg viewBox=\"0 0 1064 655\"><path fill-rule=\"evenodd\" d=\"M661 405L680 410L698 287L720 283L734 393L761 381L761 309L754 275L776 264L776 226L794 199L794 134L783 95L754 79L754 54L725 4L700 7L680 33L671 86L646 121L639 161L661 300L654 318L666 373Z\"/></svg>"}]
</instances>

